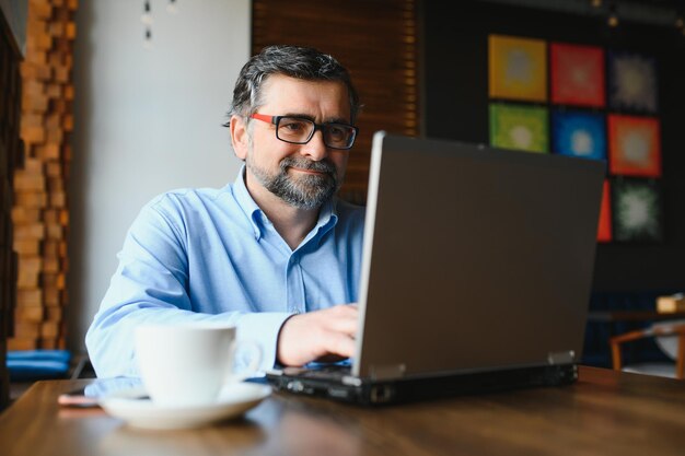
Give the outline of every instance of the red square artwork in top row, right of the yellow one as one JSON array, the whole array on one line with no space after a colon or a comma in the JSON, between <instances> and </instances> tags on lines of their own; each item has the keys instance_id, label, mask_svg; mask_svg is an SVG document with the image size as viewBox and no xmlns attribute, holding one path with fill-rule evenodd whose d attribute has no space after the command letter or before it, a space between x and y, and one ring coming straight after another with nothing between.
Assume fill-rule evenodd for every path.
<instances>
[{"instance_id":1,"label":"red square artwork in top row, right of the yellow one","mask_svg":"<svg viewBox=\"0 0 685 456\"><path fill-rule=\"evenodd\" d=\"M553 103L605 105L604 50L601 47L553 43L549 54Z\"/></svg>"}]
</instances>

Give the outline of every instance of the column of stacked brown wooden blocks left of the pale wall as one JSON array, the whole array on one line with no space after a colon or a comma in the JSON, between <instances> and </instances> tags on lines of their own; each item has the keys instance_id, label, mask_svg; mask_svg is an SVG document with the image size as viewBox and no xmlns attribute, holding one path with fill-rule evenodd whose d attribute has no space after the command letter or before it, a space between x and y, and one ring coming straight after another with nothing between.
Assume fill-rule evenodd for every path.
<instances>
[{"instance_id":1,"label":"column of stacked brown wooden blocks left of the pale wall","mask_svg":"<svg viewBox=\"0 0 685 456\"><path fill-rule=\"evenodd\" d=\"M73 128L76 0L28 5L21 137L24 166L14 175L14 249L19 255L10 350L65 348L68 271L67 178Z\"/></svg>"}]
</instances>

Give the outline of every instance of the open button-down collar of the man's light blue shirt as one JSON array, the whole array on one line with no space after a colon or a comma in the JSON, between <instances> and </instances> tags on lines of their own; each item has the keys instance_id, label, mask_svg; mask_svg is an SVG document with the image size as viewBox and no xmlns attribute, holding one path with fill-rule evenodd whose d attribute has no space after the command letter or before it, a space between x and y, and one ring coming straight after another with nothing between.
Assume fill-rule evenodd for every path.
<instances>
[{"instance_id":1,"label":"open button-down collar of the man's light blue shirt","mask_svg":"<svg viewBox=\"0 0 685 456\"><path fill-rule=\"evenodd\" d=\"M262 231L265 229L267 224L270 224L264 211L257 206L255 200L247 191L247 187L245 186L245 164L241 167L237 173L237 177L233 183L233 189L235 199L237 204L241 207L249 222L252 223L253 231L255 233L255 238L259 239L262 237ZM318 211L318 220L316 221L316 225L312 229L310 234L306 236L306 241L309 241L314 235L324 235L328 232L333 226L338 222L338 213L337 213L338 199L336 197L326 201L321 210Z\"/></svg>"}]
</instances>

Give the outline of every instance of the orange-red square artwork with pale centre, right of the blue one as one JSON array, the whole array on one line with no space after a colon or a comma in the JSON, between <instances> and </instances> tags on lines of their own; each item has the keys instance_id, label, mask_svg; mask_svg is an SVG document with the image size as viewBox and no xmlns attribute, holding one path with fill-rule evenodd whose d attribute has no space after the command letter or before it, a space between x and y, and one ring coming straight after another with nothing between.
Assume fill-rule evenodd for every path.
<instances>
[{"instance_id":1,"label":"orange-red square artwork with pale centre, right of the blue one","mask_svg":"<svg viewBox=\"0 0 685 456\"><path fill-rule=\"evenodd\" d=\"M659 119L609 114L607 129L611 174L661 177Z\"/></svg>"}]
</instances>

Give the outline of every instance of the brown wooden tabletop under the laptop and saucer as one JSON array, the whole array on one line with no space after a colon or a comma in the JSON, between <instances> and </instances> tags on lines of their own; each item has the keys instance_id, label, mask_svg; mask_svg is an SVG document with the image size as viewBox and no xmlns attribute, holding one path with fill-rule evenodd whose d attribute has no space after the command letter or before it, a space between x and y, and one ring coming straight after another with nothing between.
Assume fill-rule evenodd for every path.
<instances>
[{"instance_id":1,"label":"brown wooden tabletop under the laptop and saucer","mask_svg":"<svg viewBox=\"0 0 685 456\"><path fill-rule=\"evenodd\" d=\"M685 382L581 367L567 387L364 409L275 394L243 419L146 431L59 408L39 382L0 416L3 456L683 455Z\"/></svg>"}]
</instances>

